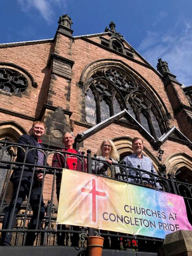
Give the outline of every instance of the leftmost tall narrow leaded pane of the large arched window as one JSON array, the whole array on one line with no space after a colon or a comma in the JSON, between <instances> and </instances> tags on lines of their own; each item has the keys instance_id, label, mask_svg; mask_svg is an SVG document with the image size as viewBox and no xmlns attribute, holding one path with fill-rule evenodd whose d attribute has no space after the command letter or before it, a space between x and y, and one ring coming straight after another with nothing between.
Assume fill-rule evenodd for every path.
<instances>
[{"instance_id":1,"label":"leftmost tall narrow leaded pane of the large arched window","mask_svg":"<svg viewBox=\"0 0 192 256\"><path fill-rule=\"evenodd\" d=\"M86 97L86 117L87 123L97 124L96 103L91 89L88 90Z\"/></svg>"}]
</instances>

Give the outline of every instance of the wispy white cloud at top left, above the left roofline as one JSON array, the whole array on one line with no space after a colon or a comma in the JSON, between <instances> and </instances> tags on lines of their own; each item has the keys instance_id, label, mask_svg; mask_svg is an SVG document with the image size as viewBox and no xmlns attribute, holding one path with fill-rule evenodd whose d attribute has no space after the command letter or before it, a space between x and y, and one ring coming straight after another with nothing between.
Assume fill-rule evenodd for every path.
<instances>
[{"instance_id":1,"label":"wispy white cloud at top left, above the left roofline","mask_svg":"<svg viewBox=\"0 0 192 256\"><path fill-rule=\"evenodd\" d=\"M30 9L37 9L43 18L48 22L53 22L54 11L53 6L59 5L63 8L66 7L66 0L17 0L24 12L28 12Z\"/></svg>"}]
</instances>

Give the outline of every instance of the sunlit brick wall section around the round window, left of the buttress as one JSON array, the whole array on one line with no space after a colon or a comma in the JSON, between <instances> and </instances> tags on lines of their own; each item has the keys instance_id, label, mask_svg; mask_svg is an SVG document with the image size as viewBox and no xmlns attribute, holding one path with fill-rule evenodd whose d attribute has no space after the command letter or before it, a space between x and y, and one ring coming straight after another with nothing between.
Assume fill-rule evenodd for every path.
<instances>
[{"instance_id":1,"label":"sunlit brick wall section around the round window, left of the buttress","mask_svg":"<svg viewBox=\"0 0 192 256\"><path fill-rule=\"evenodd\" d=\"M11 62L26 69L38 84L38 88L32 87L30 96L19 98L16 94L11 97L0 94L0 107L33 117L39 116L49 85L47 60L50 47L50 43L45 43L0 49L0 61Z\"/></svg>"}]
</instances>

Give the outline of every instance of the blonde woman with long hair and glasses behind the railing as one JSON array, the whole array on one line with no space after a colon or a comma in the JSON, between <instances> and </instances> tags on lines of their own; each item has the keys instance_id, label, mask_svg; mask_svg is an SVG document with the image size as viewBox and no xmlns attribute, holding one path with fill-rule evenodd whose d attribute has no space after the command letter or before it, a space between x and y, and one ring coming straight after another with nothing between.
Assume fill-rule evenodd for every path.
<instances>
[{"instance_id":1,"label":"blonde woman with long hair and glasses behind the railing","mask_svg":"<svg viewBox=\"0 0 192 256\"><path fill-rule=\"evenodd\" d=\"M109 158L112 160L110 160ZM97 159L101 161L92 161L92 173L100 174L102 176L107 177L118 177L118 174L120 173L119 167L114 165L112 165L111 168L109 167L109 165L111 165L112 162L118 163L119 161L119 154L116 150L113 141L105 139L101 143L101 146L97 151ZM106 161L108 164L103 161Z\"/></svg>"}]
</instances>

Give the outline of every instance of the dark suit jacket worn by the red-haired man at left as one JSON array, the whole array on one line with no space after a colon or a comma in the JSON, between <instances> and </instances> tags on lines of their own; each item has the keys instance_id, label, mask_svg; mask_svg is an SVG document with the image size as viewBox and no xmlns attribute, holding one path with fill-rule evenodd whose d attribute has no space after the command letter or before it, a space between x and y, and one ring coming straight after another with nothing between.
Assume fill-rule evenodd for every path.
<instances>
[{"instance_id":1,"label":"dark suit jacket worn by the red-haired man at left","mask_svg":"<svg viewBox=\"0 0 192 256\"><path fill-rule=\"evenodd\" d=\"M24 145L29 144L30 146L36 146L35 139L32 136L27 135L27 134L22 135L19 138L18 143L19 144L24 144ZM24 149L26 149L26 146L24 146ZM27 154L25 163L34 164L35 163L35 157L37 157L37 160L38 160L38 150L33 149ZM17 148L17 162L23 163L24 158L25 158L25 152L21 148L18 147ZM20 167L20 170L14 170L13 171L13 174L11 175L11 178L10 178L11 182L14 182L15 179L20 178L21 169L22 169L22 166ZM32 168L31 168L31 171L24 171L22 177L29 177L29 178L32 177Z\"/></svg>"}]
</instances>

